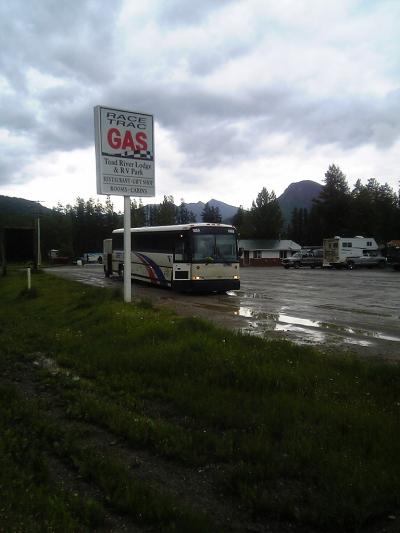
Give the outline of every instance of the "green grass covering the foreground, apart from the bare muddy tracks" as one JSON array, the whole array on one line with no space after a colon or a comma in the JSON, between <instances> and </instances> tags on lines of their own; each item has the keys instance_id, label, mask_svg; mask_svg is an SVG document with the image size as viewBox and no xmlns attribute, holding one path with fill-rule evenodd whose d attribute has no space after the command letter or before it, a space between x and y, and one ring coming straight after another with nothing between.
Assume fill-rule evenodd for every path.
<instances>
[{"instance_id":1,"label":"green grass covering the foreground, apart from the bare muddy tracks","mask_svg":"<svg viewBox=\"0 0 400 533\"><path fill-rule=\"evenodd\" d=\"M260 520L357 530L398 508L397 364L235 334L48 275L33 276L29 295L24 281L12 272L0 279L0 371L21 361L56 361L63 371L43 379L71 420L96 424L177 465L219 465L218 491ZM40 420L36 409L33 428ZM13 431L13 439L23 439L18 427ZM114 459L109 471L93 450L81 456L80 448L68 448L75 451L67 456L104 501L116 492L115 480L137 483L124 478ZM35 449L37 460L21 461L29 469L10 463L15 483L28 475L43 501L53 498L54 524L92 527L104 502L89 499L83 509L65 503L45 474L46 453L54 448L39 439ZM177 512L168 494L160 510L158 489L149 488L139 502L129 499L131 493L134 488L119 494L114 506L123 513L142 509L132 513L135 520L140 514L146 523L170 527L183 520L178 531L183 523L203 524L196 511ZM18 487L7 498L21 498Z\"/></svg>"}]
</instances>

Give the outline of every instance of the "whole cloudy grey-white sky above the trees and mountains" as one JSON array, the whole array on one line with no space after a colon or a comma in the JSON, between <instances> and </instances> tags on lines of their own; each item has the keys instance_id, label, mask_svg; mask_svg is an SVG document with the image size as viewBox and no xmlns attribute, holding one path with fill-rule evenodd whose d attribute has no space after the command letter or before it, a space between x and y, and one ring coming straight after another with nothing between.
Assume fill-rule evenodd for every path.
<instances>
[{"instance_id":1,"label":"whole cloudy grey-white sky above the trees and mountains","mask_svg":"<svg viewBox=\"0 0 400 533\"><path fill-rule=\"evenodd\" d=\"M97 198L96 105L154 115L156 201L331 163L398 190L399 28L399 0L2 0L0 194Z\"/></svg>"}]
</instances>

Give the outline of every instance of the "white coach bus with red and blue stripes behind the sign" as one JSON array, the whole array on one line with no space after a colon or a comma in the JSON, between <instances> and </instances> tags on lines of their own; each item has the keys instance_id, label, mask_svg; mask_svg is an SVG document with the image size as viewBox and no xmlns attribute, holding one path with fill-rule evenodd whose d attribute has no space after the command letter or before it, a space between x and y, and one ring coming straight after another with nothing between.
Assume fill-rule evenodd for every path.
<instances>
[{"instance_id":1,"label":"white coach bus with red and blue stripes behind the sign","mask_svg":"<svg viewBox=\"0 0 400 533\"><path fill-rule=\"evenodd\" d=\"M240 288L237 233L227 224L182 224L131 229L132 279L178 291ZM123 276L124 230L104 240L104 273Z\"/></svg>"}]
</instances>

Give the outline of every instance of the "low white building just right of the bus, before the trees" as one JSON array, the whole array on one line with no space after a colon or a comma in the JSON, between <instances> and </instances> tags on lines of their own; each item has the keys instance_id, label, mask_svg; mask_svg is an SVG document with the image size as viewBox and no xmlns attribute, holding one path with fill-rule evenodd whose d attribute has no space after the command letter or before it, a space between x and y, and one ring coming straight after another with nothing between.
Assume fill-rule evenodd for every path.
<instances>
[{"instance_id":1,"label":"low white building just right of the bus, before the trees","mask_svg":"<svg viewBox=\"0 0 400 533\"><path fill-rule=\"evenodd\" d=\"M239 248L243 249L241 266L281 265L281 259L301 250L300 244L279 239L241 239Z\"/></svg>"}]
</instances>

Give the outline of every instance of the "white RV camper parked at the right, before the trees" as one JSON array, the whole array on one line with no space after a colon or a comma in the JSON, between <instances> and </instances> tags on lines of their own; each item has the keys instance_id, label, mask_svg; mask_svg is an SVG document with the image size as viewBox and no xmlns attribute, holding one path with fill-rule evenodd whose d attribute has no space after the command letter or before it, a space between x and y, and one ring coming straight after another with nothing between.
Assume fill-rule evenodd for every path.
<instances>
[{"instance_id":1,"label":"white RV camper parked at the right, before the trees","mask_svg":"<svg viewBox=\"0 0 400 533\"><path fill-rule=\"evenodd\" d=\"M324 239L324 266L333 266L336 268L346 267L353 268L353 266L361 266L369 263L371 258L371 266L373 264L372 258L379 263L381 258L383 266L385 258L379 254L378 245L372 237L356 236L353 238L347 237L333 237L332 239Z\"/></svg>"}]
</instances>

